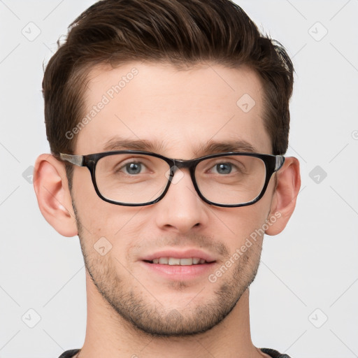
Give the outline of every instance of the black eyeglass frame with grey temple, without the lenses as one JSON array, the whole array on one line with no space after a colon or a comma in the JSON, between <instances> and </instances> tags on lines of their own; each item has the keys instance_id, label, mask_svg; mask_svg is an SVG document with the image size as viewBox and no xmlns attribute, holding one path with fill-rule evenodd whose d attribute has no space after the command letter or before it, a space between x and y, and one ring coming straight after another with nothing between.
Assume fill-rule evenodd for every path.
<instances>
[{"instance_id":1,"label":"black eyeglass frame with grey temple, without the lenses","mask_svg":"<svg viewBox=\"0 0 358 358\"><path fill-rule=\"evenodd\" d=\"M164 191L157 199L155 199L153 201L149 201L148 203L121 203L119 201L113 201L113 200L107 199L105 196L103 196L101 194L101 192L99 192L99 188L97 187L97 183L96 183L96 164L99 161L99 159L101 159L103 157L107 157L109 155L118 155L118 154L150 155L152 157L157 157L159 159L162 159L167 164L169 164L170 175L168 178L168 182L166 184L166 187L164 188ZM214 203L213 201L206 199L206 197L203 196L203 194L201 194L200 189L196 183L196 178L195 178L196 166L205 159L211 159L211 158L216 158L216 157L226 157L229 155L238 155L238 156L242 155L242 156L246 156L246 157L255 157L255 158L262 159L262 162L264 162L265 167L266 167L266 178L265 178L264 186L262 187L261 193L254 200L248 201L246 203L240 203L240 204L222 204L222 203ZM148 206L148 205L152 205L152 204L157 203L158 201L162 200L164 198L166 192L168 192L168 190L169 190L171 181L173 180L174 174L176 173L177 169L189 169L190 177L192 178L192 183L194 185L194 188L195 188L197 194L199 195L199 197L206 203L208 203L210 205L214 205L214 206L224 207L224 208L238 208L241 206L249 206L254 203L257 203L257 201L259 201L259 199L261 199L262 196L264 196L267 186L268 186L268 182L271 179L271 176L273 175L273 173L278 171L282 167L283 163L285 162L285 157L283 155L268 155L268 154L260 154L260 153L255 153L255 152L224 152L224 153L206 155L206 156L199 157L196 159L187 159L187 160L171 159L168 157L164 157L163 155L159 155L157 153L144 152L141 150L113 150L110 152L94 153L94 154L90 154L90 155L69 155L69 154L59 153L59 156L57 156L57 157L58 157L58 159L61 159L62 161L69 162L76 166L86 166L90 170L91 178L92 178L92 182L93 182L94 190L96 191L96 194L102 200L107 201L108 203L113 203L115 205L121 205L121 206Z\"/></svg>"}]
</instances>

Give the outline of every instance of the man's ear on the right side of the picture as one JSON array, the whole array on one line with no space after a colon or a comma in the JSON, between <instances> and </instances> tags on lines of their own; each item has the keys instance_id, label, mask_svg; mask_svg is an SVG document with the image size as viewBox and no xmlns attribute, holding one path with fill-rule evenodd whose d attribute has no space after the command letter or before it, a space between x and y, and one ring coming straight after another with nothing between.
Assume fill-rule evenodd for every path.
<instances>
[{"instance_id":1,"label":"man's ear on the right side of the picture","mask_svg":"<svg viewBox=\"0 0 358 358\"><path fill-rule=\"evenodd\" d=\"M301 187L299 173L299 161L294 157L285 158L282 168L276 173L277 185L271 201L270 214L268 215L267 235L277 235L285 229L286 224L294 212L296 198ZM275 216L275 222L270 217Z\"/></svg>"}]
</instances>

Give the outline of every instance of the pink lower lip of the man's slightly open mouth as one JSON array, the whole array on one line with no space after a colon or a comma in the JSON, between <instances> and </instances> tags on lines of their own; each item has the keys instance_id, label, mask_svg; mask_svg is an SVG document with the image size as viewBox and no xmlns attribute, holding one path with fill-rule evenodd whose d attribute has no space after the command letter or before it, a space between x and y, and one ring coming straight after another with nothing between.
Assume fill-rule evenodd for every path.
<instances>
[{"instance_id":1,"label":"pink lower lip of the man's slightly open mouth","mask_svg":"<svg viewBox=\"0 0 358 358\"><path fill-rule=\"evenodd\" d=\"M145 268L173 280L190 280L213 271L215 262L197 265L161 265L142 261Z\"/></svg>"}]
</instances>

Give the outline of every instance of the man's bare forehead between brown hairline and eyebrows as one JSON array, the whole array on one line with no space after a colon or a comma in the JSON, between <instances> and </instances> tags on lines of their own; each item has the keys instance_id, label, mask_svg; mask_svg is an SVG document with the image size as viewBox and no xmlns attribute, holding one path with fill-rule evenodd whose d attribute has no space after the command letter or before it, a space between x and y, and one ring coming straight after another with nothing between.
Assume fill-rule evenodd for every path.
<instances>
[{"instance_id":1,"label":"man's bare forehead between brown hairline and eyebrows","mask_svg":"<svg viewBox=\"0 0 358 358\"><path fill-rule=\"evenodd\" d=\"M242 141L271 152L262 91L247 67L97 66L88 76L76 152L101 152L117 139L155 143L150 149L177 158L193 157L208 142Z\"/></svg>"}]
</instances>

